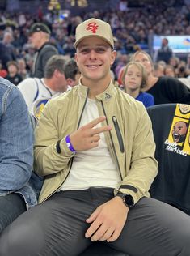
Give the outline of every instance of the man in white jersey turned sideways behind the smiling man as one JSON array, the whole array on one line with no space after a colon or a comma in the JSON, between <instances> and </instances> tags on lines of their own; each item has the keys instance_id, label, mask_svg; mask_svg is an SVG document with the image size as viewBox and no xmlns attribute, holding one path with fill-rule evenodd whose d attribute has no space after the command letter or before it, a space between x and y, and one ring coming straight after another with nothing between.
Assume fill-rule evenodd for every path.
<instances>
[{"instance_id":1,"label":"man in white jersey turned sideways behind the smiling man","mask_svg":"<svg viewBox=\"0 0 190 256\"><path fill-rule=\"evenodd\" d=\"M39 118L49 99L70 88L65 79L64 56L53 55L44 68L44 78L27 78L19 83L18 88L23 94L29 112Z\"/></svg>"}]
</instances>

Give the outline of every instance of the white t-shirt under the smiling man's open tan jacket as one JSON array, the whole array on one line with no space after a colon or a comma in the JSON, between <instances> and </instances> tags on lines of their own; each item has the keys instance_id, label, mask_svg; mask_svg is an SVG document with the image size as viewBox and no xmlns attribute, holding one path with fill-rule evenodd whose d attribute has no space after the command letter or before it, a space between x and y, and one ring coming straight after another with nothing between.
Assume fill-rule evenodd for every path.
<instances>
[{"instance_id":1,"label":"white t-shirt under the smiling man's open tan jacket","mask_svg":"<svg viewBox=\"0 0 190 256\"><path fill-rule=\"evenodd\" d=\"M88 99L80 126L97 117L99 112L95 100ZM120 184L120 173L112 161L103 133L100 138L99 147L76 152L69 176L61 190L85 190L91 186L116 188Z\"/></svg>"}]
</instances>

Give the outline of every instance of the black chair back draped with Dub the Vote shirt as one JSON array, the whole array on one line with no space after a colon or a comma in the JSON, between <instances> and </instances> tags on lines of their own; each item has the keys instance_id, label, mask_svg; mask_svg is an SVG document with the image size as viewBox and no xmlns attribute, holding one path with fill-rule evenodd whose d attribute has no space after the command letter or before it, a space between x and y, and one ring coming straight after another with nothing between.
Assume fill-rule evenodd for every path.
<instances>
[{"instance_id":1,"label":"black chair back draped with Dub the Vote shirt","mask_svg":"<svg viewBox=\"0 0 190 256\"><path fill-rule=\"evenodd\" d=\"M147 111L158 160L158 176L150 188L151 197L190 215L190 105L155 105Z\"/></svg>"}]
</instances>

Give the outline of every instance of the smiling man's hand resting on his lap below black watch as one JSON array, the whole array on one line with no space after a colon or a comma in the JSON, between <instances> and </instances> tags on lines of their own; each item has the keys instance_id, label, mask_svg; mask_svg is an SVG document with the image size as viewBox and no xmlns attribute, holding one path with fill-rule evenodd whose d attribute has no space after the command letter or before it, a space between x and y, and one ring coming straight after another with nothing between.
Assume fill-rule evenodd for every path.
<instances>
[{"instance_id":1,"label":"smiling man's hand resting on his lap below black watch","mask_svg":"<svg viewBox=\"0 0 190 256\"><path fill-rule=\"evenodd\" d=\"M122 202L122 198L112 198L107 203L100 205L86 220L91 223L85 237L91 241L115 241L124 228L129 207Z\"/></svg>"}]
</instances>

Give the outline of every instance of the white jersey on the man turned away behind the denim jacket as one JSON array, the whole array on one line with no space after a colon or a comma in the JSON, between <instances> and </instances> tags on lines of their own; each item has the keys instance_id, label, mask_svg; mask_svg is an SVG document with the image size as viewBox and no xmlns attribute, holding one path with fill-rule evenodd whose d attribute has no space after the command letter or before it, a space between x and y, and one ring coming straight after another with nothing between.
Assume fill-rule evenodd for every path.
<instances>
[{"instance_id":1,"label":"white jersey on the man turned away behind the denim jacket","mask_svg":"<svg viewBox=\"0 0 190 256\"><path fill-rule=\"evenodd\" d=\"M29 112L39 118L44 105L49 99L59 96L62 92L54 92L44 84L44 79L27 78L17 86L22 92Z\"/></svg>"}]
</instances>

